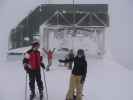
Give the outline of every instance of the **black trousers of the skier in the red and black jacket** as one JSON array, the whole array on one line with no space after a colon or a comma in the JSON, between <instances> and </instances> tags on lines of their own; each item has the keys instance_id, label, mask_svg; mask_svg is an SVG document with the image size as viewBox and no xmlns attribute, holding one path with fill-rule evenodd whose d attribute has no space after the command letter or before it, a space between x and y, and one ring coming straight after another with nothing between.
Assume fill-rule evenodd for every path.
<instances>
[{"instance_id":1,"label":"black trousers of the skier in the red and black jacket","mask_svg":"<svg viewBox=\"0 0 133 100\"><path fill-rule=\"evenodd\" d=\"M41 80L40 69L29 71L29 87L32 93L35 93L35 81L37 82L39 92L43 91L43 82Z\"/></svg>"}]
</instances>

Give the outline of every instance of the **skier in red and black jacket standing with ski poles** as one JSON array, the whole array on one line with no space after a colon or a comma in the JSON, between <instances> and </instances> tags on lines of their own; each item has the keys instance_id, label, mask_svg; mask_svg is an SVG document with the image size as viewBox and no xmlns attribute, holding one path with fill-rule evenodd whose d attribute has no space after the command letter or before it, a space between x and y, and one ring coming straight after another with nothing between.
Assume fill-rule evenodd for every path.
<instances>
[{"instance_id":1,"label":"skier in red and black jacket standing with ski poles","mask_svg":"<svg viewBox=\"0 0 133 100\"><path fill-rule=\"evenodd\" d=\"M39 42L33 42L32 48L24 54L23 65L25 71L29 74L29 87L31 90L30 99L35 97L35 80L38 85L40 98L43 97L43 82L41 80L40 66L45 68L40 54Z\"/></svg>"}]
</instances>

